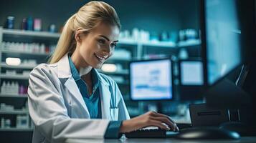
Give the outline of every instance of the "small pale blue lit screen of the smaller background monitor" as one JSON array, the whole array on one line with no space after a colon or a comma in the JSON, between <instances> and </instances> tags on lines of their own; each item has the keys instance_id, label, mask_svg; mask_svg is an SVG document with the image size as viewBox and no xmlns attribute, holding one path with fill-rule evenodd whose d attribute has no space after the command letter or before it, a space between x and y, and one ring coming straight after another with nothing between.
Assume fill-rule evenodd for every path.
<instances>
[{"instance_id":1,"label":"small pale blue lit screen of the smaller background monitor","mask_svg":"<svg viewBox=\"0 0 256 143\"><path fill-rule=\"evenodd\" d=\"M202 86L204 73L202 61L180 62L181 85Z\"/></svg>"}]
</instances>

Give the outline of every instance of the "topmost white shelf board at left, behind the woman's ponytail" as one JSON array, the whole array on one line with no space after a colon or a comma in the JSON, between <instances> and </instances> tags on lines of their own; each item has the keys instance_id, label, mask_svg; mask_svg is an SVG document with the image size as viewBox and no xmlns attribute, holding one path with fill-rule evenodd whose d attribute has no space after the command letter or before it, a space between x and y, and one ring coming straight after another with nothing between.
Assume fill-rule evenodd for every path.
<instances>
[{"instance_id":1,"label":"topmost white shelf board at left, behind the woman's ponytail","mask_svg":"<svg viewBox=\"0 0 256 143\"><path fill-rule=\"evenodd\" d=\"M59 38L60 34L50 33L47 31L24 31L20 29L3 29L3 34L13 34L22 36L38 36L38 37L48 37L48 38Z\"/></svg>"}]
</instances>

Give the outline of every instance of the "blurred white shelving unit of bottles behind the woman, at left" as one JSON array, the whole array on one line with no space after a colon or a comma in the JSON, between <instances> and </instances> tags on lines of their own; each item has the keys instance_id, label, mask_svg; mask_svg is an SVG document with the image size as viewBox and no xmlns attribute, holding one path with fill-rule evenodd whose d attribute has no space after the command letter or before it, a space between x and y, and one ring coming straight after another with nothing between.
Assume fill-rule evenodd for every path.
<instances>
[{"instance_id":1,"label":"blurred white shelving unit of bottles behind the woman, at left","mask_svg":"<svg viewBox=\"0 0 256 143\"><path fill-rule=\"evenodd\" d=\"M40 43L51 45L52 43L57 44L57 39L59 39L60 34L49 33L46 31L23 31L19 29L3 29L0 27L0 84L2 85L4 81L17 82L19 85L24 87L28 86L29 75L22 74L23 71L31 71L37 64L41 63L42 60L49 56L46 52L28 52L22 51L21 49L4 49L2 46L2 41L9 42L25 42L25 43ZM17 66L10 66L6 64L6 57L16 57L21 60L24 59L34 59L41 60L37 61L37 64L19 64ZM45 60L46 61L46 60ZM16 71L16 74L6 74L7 70ZM25 90L25 89L24 89ZM3 110L0 109L0 119L11 119L11 128L0 128L1 132L32 132L33 127L31 124L31 119L29 119L27 128L15 128L16 117L18 115L28 116L28 109L22 109L27 104L27 94L7 94L0 92L0 104L11 105L14 110Z\"/></svg>"}]
</instances>

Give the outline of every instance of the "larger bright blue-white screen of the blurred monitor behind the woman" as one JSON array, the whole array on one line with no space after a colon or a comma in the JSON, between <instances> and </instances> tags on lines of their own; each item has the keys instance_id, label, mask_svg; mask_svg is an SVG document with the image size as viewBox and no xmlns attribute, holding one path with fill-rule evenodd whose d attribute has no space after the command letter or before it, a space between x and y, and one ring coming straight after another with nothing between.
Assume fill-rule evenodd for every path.
<instances>
[{"instance_id":1,"label":"larger bright blue-white screen of the blurred monitor behind the woman","mask_svg":"<svg viewBox=\"0 0 256 143\"><path fill-rule=\"evenodd\" d=\"M133 100L172 99L171 60L156 59L130 63Z\"/></svg>"}]
</instances>

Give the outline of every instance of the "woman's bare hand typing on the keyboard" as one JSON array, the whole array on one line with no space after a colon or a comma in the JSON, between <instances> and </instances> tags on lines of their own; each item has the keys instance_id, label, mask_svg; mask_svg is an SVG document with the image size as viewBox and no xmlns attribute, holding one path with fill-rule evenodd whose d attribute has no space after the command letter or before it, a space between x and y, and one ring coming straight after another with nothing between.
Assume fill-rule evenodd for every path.
<instances>
[{"instance_id":1,"label":"woman's bare hand typing on the keyboard","mask_svg":"<svg viewBox=\"0 0 256 143\"><path fill-rule=\"evenodd\" d=\"M149 126L155 126L166 130L170 130L171 127L173 131L179 130L176 123L165 114L160 114L157 112L147 112L145 114L142 114L141 116L123 121L119 132L131 132L136 129L141 129L143 127Z\"/></svg>"}]
</instances>

